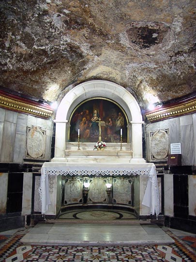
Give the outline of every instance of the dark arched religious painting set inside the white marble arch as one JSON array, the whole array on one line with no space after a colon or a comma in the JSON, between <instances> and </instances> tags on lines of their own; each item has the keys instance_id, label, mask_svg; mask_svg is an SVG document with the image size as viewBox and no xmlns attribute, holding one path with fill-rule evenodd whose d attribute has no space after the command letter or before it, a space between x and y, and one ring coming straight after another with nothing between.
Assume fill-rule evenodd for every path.
<instances>
[{"instance_id":1,"label":"dark arched religious painting set inside the white marble arch","mask_svg":"<svg viewBox=\"0 0 196 262\"><path fill-rule=\"evenodd\" d=\"M127 117L115 102L95 98L79 105L70 118L69 142L127 142Z\"/></svg>"}]
</instances>

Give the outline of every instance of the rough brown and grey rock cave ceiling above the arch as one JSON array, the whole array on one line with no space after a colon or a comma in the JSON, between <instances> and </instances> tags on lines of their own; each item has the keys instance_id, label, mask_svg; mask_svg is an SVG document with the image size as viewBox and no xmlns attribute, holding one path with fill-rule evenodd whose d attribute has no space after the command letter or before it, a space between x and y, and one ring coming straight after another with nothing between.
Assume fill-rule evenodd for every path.
<instances>
[{"instance_id":1,"label":"rough brown and grey rock cave ceiling above the arch","mask_svg":"<svg viewBox=\"0 0 196 262\"><path fill-rule=\"evenodd\" d=\"M143 108L196 91L195 0L1 0L0 85L60 101L107 80ZM151 100L152 99L152 100Z\"/></svg>"}]
</instances>

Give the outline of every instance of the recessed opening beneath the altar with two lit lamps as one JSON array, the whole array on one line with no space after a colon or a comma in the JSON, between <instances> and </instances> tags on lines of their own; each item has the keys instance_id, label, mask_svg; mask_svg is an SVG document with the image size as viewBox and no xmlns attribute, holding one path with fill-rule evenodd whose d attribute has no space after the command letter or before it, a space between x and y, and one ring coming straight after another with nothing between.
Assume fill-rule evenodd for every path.
<instances>
[{"instance_id":1,"label":"recessed opening beneath the altar with two lit lamps","mask_svg":"<svg viewBox=\"0 0 196 262\"><path fill-rule=\"evenodd\" d=\"M136 219L135 176L62 176L61 179L63 194L59 218Z\"/></svg>"}]
</instances>

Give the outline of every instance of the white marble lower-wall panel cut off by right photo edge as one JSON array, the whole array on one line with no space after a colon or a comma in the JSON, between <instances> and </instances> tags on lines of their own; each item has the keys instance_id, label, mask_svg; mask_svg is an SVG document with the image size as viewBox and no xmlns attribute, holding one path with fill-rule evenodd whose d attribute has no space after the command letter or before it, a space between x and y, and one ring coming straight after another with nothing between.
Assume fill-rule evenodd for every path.
<instances>
[{"instance_id":1,"label":"white marble lower-wall panel cut off by right photo edge","mask_svg":"<svg viewBox=\"0 0 196 262\"><path fill-rule=\"evenodd\" d=\"M196 175L188 176L189 215L196 216Z\"/></svg>"}]
</instances>

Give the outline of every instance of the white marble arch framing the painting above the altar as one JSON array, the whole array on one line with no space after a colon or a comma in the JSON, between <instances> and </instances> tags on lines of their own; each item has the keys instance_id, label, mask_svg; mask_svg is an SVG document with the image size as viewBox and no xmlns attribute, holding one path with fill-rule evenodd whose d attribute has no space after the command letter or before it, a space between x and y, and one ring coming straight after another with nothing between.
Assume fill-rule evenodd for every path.
<instances>
[{"instance_id":1,"label":"white marble arch framing the painting above the altar","mask_svg":"<svg viewBox=\"0 0 196 262\"><path fill-rule=\"evenodd\" d=\"M142 158L142 115L136 99L122 86L108 81L94 80L81 83L61 100L57 110L55 157L52 162L62 162L67 149L69 118L75 107L89 98L103 97L116 101L128 117L128 141L133 151L131 162L145 162ZM66 161L66 160L65 160Z\"/></svg>"}]
</instances>

